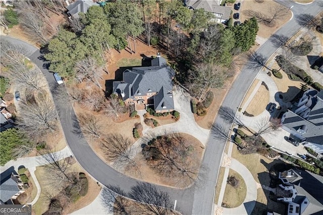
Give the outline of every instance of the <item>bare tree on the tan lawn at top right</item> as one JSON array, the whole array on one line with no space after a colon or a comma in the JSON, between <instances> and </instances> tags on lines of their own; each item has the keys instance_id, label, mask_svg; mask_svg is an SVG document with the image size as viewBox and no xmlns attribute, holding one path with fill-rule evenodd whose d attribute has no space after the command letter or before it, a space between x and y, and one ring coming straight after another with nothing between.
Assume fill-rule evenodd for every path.
<instances>
[{"instance_id":1,"label":"bare tree on the tan lawn at top right","mask_svg":"<svg viewBox=\"0 0 323 215\"><path fill-rule=\"evenodd\" d=\"M268 26L275 25L276 20L284 19L287 16L288 9L284 6L275 6L268 10L268 13L260 11L246 10L245 13L250 17L255 17L258 22Z\"/></svg>"}]
</instances>

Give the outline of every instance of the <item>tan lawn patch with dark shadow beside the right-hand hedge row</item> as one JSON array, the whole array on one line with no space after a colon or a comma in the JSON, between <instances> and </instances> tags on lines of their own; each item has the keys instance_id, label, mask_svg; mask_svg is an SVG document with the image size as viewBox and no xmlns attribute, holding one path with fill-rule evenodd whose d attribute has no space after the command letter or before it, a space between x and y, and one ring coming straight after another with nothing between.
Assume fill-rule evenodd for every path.
<instances>
[{"instance_id":1,"label":"tan lawn patch with dark shadow beside the right-hand hedge row","mask_svg":"<svg viewBox=\"0 0 323 215\"><path fill-rule=\"evenodd\" d=\"M274 61L272 69L279 70L280 68L277 62L275 60L272 60L272 61ZM297 93L300 91L300 87L301 87L301 84L303 84L303 82L292 81L288 78L287 74L284 71L281 70L280 72L283 76L282 79L276 78L274 76L272 76L272 78L275 81L278 90L283 95L283 101L288 102L297 95Z\"/></svg>"}]
</instances>

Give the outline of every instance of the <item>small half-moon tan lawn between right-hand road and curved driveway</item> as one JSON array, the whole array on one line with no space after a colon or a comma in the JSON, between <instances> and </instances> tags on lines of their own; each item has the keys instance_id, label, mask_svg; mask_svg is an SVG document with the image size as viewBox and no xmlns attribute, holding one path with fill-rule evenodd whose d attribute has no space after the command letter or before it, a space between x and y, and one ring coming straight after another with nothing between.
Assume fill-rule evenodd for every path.
<instances>
[{"instance_id":1,"label":"small half-moon tan lawn between right-hand road and curved driveway","mask_svg":"<svg viewBox=\"0 0 323 215\"><path fill-rule=\"evenodd\" d=\"M266 109L268 102L269 102L269 91L266 89L264 85L260 85L256 94L250 101L246 109L246 112L248 114L252 114L253 116L257 116Z\"/></svg>"}]
</instances>

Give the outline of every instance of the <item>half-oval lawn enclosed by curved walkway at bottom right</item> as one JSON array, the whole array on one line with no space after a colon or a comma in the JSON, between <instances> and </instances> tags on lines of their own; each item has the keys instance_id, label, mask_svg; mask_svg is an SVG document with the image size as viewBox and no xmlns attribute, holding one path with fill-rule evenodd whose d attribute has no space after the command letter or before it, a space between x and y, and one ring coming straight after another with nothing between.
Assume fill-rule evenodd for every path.
<instances>
[{"instance_id":1,"label":"half-oval lawn enclosed by curved walkway at bottom right","mask_svg":"<svg viewBox=\"0 0 323 215\"><path fill-rule=\"evenodd\" d=\"M247 186L244 182L242 176L234 170L229 170L229 177L234 176L239 180L239 185L237 188L234 188L230 184L227 184L226 190L224 192L223 203L228 207L233 208L237 207L243 203L247 195Z\"/></svg>"}]
</instances>

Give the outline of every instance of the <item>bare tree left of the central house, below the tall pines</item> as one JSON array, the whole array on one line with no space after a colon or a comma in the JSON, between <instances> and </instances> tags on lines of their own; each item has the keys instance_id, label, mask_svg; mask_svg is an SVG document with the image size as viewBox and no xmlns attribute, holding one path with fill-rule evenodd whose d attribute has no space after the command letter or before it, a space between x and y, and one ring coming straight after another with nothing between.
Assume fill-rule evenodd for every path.
<instances>
[{"instance_id":1,"label":"bare tree left of the central house, below the tall pines","mask_svg":"<svg viewBox=\"0 0 323 215\"><path fill-rule=\"evenodd\" d=\"M102 89L99 80L102 78L102 68L100 68L95 59L92 57L87 57L75 65L76 78L79 82L82 82L84 79L92 81L100 89Z\"/></svg>"}]
</instances>

